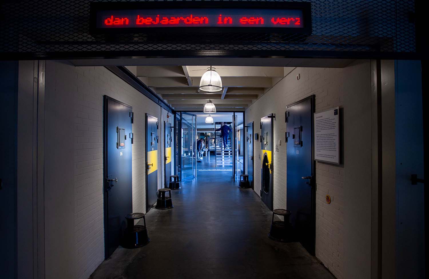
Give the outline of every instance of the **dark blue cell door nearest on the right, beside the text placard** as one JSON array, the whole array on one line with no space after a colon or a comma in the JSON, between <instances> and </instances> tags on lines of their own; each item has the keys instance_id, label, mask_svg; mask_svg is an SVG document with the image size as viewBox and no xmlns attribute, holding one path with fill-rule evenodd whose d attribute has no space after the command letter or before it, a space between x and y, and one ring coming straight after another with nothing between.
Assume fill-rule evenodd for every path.
<instances>
[{"instance_id":1,"label":"dark blue cell door nearest on the right, beside the text placard","mask_svg":"<svg viewBox=\"0 0 429 279\"><path fill-rule=\"evenodd\" d=\"M314 255L315 174L313 160L314 95L286 107L287 209L302 246Z\"/></svg>"}]
</instances>

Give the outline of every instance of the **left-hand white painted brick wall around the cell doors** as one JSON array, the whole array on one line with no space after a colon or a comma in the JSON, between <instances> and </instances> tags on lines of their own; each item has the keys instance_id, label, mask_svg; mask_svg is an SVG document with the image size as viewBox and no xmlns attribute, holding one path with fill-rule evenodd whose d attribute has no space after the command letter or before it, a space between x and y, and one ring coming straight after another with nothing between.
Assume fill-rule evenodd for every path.
<instances>
[{"instance_id":1,"label":"left-hand white painted brick wall around the cell doors","mask_svg":"<svg viewBox=\"0 0 429 279\"><path fill-rule=\"evenodd\" d=\"M145 212L145 113L161 119L161 108L116 77L104 67L74 67L48 61L54 73L46 73L46 82L56 94L74 94L75 204L74 228L75 278L86 279L104 260L103 225L103 95L133 107L134 144L132 146L133 212ZM54 86L56 85L56 86ZM67 85L67 92L60 90ZM58 88L58 90L57 90ZM162 139L161 128L158 136ZM158 152L161 161L161 151ZM70 171L70 170L64 170ZM161 185L161 171L158 171ZM71 221L71 220L70 220Z\"/></svg>"}]
</instances>

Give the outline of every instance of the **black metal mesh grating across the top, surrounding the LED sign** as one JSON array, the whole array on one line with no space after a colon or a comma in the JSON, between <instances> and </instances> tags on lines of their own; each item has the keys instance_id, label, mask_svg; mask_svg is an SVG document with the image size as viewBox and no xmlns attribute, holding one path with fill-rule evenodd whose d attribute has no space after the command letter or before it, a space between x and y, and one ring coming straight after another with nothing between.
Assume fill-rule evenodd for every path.
<instances>
[{"instance_id":1,"label":"black metal mesh grating across the top, surrounding the LED sign","mask_svg":"<svg viewBox=\"0 0 429 279\"><path fill-rule=\"evenodd\" d=\"M104 57L150 56L160 51L277 51L285 56L288 51L307 51L315 56L331 57L341 56L344 52L393 56L416 52L413 0L309 2L310 36L222 33L206 39L204 34L196 33L92 36L89 33L90 0L3 1L0 4L0 54L3 59L12 54L18 59L21 55L23 59L28 55L100 56L97 53L103 53ZM294 52L294 55L299 56L299 53Z\"/></svg>"}]
</instances>

